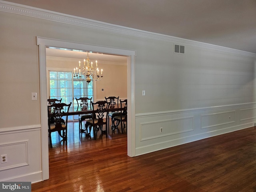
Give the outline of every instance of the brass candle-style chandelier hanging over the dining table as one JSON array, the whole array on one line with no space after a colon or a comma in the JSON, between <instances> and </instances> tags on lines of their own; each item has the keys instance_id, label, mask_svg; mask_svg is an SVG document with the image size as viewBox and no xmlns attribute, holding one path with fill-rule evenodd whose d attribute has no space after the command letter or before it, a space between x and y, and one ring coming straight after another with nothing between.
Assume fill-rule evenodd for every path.
<instances>
[{"instance_id":1,"label":"brass candle-style chandelier hanging over the dining table","mask_svg":"<svg viewBox=\"0 0 256 192\"><path fill-rule=\"evenodd\" d=\"M87 65L85 64L87 63ZM92 62L90 65L90 59L87 52L87 58L84 59L84 66L81 69L81 62L79 61L79 68L74 68L74 78L82 81L86 80L86 82L90 83L91 80L100 81L102 79L102 69L101 69L101 75L99 75L99 68L98 68L98 62L96 61L96 69L94 70Z\"/></svg>"}]
</instances>

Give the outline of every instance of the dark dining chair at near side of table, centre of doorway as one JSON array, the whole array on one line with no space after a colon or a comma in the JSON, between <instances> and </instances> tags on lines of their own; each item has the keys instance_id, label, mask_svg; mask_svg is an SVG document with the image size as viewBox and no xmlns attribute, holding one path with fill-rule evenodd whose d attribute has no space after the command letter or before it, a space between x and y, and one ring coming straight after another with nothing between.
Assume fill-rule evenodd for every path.
<instances>
[{"instance_id":1,"label":"dark dining chair at near side of table, centre of doorway","mask_svg":"<svg viewBox=\"0 0 256 192\"><path fill-rule=\"evenodd\" d=\"M108 120L105 117L105 114L108 115L109 102L107 101L97 101L96 103L92 102L92 119L87 120L85 127L89 128L89 135L93 128L94 139L97 137L97 132L101 130L101 133L106 133L106 138L108 137ZM105 125L105 130L103 126Z\"/></svg>"}]
</instances>

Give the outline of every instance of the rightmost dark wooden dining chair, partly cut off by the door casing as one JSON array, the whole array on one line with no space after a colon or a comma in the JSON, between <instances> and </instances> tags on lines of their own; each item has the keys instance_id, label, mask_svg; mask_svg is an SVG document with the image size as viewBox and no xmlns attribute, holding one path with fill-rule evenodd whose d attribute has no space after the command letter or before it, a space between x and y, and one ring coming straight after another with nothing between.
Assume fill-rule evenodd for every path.
<instances>
[{"instance_id":1,"label":"rightmost dark wooden dining chair, partly cut off by the door casing","mask_svg":"<svg viewBox=\"0 0 256 192\"><path fill-rule=\"evenodd\" d=\"M121 131L123 134L124 128L126 128L126 132L127 132L127 99L123 101L120 100L120 105L122 108L121 114L120 116L115 116L113 118L113 125L115 128L117 128L118 125L121 124ZM124 124L124 122L126 122L126 124Z\"/></svg>"}]
</instances>

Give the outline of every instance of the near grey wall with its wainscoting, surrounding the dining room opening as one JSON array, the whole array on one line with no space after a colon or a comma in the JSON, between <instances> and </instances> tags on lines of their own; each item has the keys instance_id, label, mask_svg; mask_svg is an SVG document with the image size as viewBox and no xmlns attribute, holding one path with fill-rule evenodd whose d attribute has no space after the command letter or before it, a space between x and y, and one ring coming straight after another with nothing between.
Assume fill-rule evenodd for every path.
<instances>
[{"instance_id":1,"label":"near grey wall with its wainscoting, surrounding the dining room opening","mask_svg":"<svg viewBox=\"0 0 256 192\"><path fill-rule=\"evenodd\" d=\"M37 36L136 50L135 155L256 121L255 54L178 38L185 54L174 54L173 38L159 34L131 35L6 11L0 11L0 154L8 153L9 162L0 164L0 181L42 180ZM31 100L31 92L38 100Z\"/></svg>"}]
</instances>

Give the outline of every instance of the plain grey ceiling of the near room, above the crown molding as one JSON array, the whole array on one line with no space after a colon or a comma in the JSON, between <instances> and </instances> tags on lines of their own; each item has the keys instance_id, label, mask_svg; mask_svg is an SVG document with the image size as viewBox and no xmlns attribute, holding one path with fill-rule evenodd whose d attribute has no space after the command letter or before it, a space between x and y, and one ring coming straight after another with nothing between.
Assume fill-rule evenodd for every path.
<instances>
[{"instance_id":1,"label":"plain grey ceiling of the near room, above the crown molding","mask_svg":"<svg viewBox=\"0 0 256 192\"><path fill-rule=\"evenodd\" d=\"M256 0L6 0L256 53Z\"/></svg>"}]
</instances>

